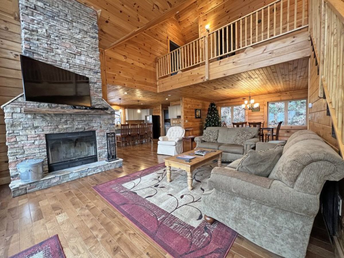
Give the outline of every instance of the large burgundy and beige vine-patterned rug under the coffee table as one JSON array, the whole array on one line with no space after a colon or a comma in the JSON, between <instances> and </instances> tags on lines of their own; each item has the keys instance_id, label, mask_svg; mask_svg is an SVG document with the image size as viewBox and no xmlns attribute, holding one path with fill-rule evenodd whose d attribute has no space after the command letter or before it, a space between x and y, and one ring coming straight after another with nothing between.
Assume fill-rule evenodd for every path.
<instances>
[{"instance_id":1,"label":"large burgundy and beige vine-patterned rug under the coffee table","mask_svg":"<svg viewBox=\"0 0 344 258\"><path fill-rule=\"evenodd\" d=\"M171 256L223 258L237 233L217 221L209 225L202 214L201 197L214 166L194 171L192 191L183 170L172 168L168 183L163 164L94 189Z\"/></svg>"}]
</instances>

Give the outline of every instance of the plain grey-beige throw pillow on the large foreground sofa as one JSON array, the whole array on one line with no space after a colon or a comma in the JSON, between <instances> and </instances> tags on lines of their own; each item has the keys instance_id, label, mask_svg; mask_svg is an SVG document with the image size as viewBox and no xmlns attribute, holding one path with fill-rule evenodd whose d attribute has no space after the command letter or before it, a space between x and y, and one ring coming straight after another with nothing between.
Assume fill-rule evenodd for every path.
<instances>
[{"instance_id":1,"label":"plain grey-beige throw pillow on the large foreground sofa","mask_svg":"<svg viewBox=\"0 0 344 258\"><path fill-rule=\"evenodd\" d=\"M249 150L236 170L267 178L281 157L282 152L283 146L264 151Z\"/></svg>"}]
</instances>

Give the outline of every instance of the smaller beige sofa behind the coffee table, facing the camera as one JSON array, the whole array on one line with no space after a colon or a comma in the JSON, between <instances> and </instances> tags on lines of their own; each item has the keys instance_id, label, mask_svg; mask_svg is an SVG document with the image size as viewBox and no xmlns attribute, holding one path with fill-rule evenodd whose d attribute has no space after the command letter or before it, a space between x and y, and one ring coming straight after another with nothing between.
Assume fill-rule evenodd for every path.
<instances>
[{"instance_id":1,"label":"smaller beige sofa behind the coffee table, facing the camera","mask_svg":"<svg viewBox=\"0 0 344 258\"><path fill-rule=\"evenodd\" d=\"M243 157L250 149L255 148L259 142L257 127L207 127L206 130L217 130L217 142L205 142L203 136L195 137L196 148L222 150L222 160L233 161ZM233 144L233 139L239 130L254 132L252 139L246 140L244 146Z\"/></svg>"}]
</instances>

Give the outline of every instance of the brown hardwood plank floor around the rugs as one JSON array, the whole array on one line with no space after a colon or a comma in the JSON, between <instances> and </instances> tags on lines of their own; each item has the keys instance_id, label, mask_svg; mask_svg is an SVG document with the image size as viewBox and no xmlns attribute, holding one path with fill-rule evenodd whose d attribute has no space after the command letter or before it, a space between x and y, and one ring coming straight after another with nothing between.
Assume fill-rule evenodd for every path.
<instances>
[{"instance_id":1,"label":"brown hardwood plank floor around the rugs","mask_svg":"<svg viewBox=\"0 0 344 258\"><path fill-rule=\"evenodd\" d=\"M171 257L103 200L92 186L163 162L157 142L119 147L123 167L12 198L0 186L0 257L58 234L66 257ZM238 236L227 257L279 257ZM320 216L307 257L334 257Z\"/></svg>"}]
</instances>

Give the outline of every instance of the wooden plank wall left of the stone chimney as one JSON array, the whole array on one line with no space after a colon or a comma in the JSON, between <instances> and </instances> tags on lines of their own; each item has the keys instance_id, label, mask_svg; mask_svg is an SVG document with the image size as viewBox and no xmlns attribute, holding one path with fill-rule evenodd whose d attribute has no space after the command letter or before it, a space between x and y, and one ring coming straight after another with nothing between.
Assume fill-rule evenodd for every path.
<instances>
[{"instance_id":1,"label":"wooden plank wall left of the stone chimney","mask_svg":"<svg viewBox=\"0 0 344 258\"><path fill-rule=\"evenodd\" d=\"M0 106L23 92L18 0L1 0L0 7ZM0 184L11 182L8 170L6 126L0 109Z\"/></svg>"}]
</instances>

